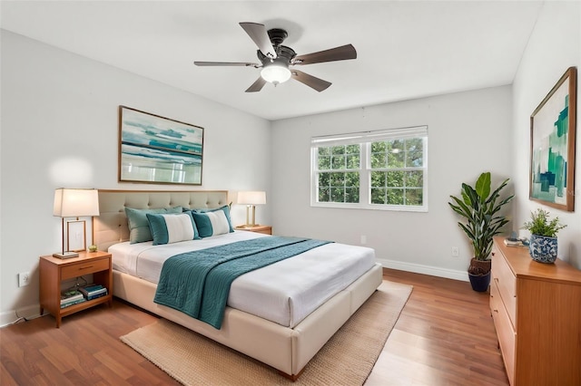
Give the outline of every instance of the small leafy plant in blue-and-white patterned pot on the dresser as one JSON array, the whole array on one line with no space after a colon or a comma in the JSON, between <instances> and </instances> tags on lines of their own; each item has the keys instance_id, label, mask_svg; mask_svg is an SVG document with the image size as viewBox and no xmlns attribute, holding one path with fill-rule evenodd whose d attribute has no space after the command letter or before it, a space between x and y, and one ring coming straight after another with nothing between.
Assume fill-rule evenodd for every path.
<instances>
[{"instance_id":1,"label":"small leafy plant in blue-and-white patterned pot on the dresser","mask_svg":"<svg viewBox=\"0 0 581 386\"><path fill-rule=\"evenodd\" d=\"M539 207L537 212L530 212L530 221L523 225L523 228L530 232L528 244L530 256L539 263L555 263L556 234L566 227L566 225L559 223L559 217L550 221L548 217L549 213Z\"/></svg>"}]
</instances>

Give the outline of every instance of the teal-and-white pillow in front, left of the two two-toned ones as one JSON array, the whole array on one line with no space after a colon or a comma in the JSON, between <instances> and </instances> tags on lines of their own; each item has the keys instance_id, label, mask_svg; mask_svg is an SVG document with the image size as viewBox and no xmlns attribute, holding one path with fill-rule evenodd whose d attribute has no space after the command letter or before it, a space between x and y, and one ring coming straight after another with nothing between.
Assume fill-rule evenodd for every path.
<instances>
[{"instance_id":1,"label":"teal-and-white pillow in front, left of the two two-toned ones","mask_svg":"<svg viewBox=\"0 0 581 386\"><path fill-rule=\"evenodd\" d=\"M153 235L153 245L172 244L200 238L193 223L192 212L179 215L147 213L147 221Z\"/></svg>"}]
</instances>

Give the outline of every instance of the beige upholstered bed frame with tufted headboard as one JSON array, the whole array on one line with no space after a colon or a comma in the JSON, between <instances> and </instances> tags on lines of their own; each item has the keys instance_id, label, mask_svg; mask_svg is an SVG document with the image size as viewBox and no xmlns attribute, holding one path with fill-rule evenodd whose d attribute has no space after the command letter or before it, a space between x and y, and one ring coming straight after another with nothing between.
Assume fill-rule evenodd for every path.
<instances>
[{"instance_id":1,"label":"beige upholstered bed frame with tufted headboard","mask_svg":"<svg viewBox=\"0 0 581 386\"><path fill-rule=\"evenodd\" d=\"M125 207L212 208L227 205L228 192L99 190L99 217L94 217L93 239L100 250L129 239ZM381 265L374 265L345 290L336 294L294 328L272 323L258 316L226 307L222 329L153 303L156 285L113 270L113 295L143 309L181 324L232 349L277 369L296 380L304 366L330 337L347 322L350 315L381 284Z\"/></svg>"}]
</instances>

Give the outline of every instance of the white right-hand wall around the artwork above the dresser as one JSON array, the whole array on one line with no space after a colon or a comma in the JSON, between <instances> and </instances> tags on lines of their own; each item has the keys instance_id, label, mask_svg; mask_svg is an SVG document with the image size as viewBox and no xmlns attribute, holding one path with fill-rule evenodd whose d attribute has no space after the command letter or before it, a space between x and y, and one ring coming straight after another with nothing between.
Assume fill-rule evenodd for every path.
<instances>
[{"instance_id":1,"label":"white right-hand wall around the artwork above the dresser","mask_svg":"<svg viewBox=\"0 0 581 386\"><path fill-rule=\"evenodd\" d=\"M576 205L575 212L566 212L528 200L530 157L530 115L547 96L570 66L577 67L576 125ZM559 217L567 227L559 232L559 257L581 268L581 3L545 2L535 31L520 63L513 84L513 140L515 147L513 174L517 186L515 218L521 226L530 212L543 207L551 217ZM570 107L571 109L574 106Z\"/></svg>"}]
</instances>

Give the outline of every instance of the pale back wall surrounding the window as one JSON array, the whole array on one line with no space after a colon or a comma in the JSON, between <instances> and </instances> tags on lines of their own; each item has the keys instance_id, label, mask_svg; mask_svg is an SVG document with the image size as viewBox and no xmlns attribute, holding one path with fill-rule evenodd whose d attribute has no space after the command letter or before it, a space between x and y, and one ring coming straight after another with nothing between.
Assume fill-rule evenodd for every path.
<instances>
[{"instance_id":1,"label":"pale back wall surrounding the window","mask_svg":"<svg viewBox=\"0 0 581 386\"><path fill-rule=\"evenodd\" d=\"M273 122L273 226L355 245L367 236L384 265L468 280L471 249L449 195L483 171L495 186L510 177L511 101L504 86ZM418 125L428 125L428 213L310 207L312 136Z\"/></svg>"}]
</instances>

